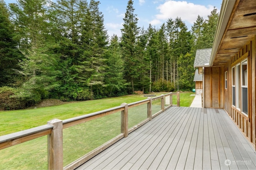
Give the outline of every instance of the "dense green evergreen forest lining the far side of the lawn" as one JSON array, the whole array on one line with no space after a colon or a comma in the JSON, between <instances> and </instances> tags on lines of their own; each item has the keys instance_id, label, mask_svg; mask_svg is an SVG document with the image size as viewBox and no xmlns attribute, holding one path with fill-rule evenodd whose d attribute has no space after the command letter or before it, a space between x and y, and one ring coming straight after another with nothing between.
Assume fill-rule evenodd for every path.
<instances>
[{"instance_id":1,"label":"dense green evergreen forest lining the far side of the lawn","mask_svg":"<svg viewBox=\"0 0 256 170\"><path fill-rule=\"evenodd\" d=\"M128 0L121 37L108 37L99 4L0 0L0 109L194 88L195 52L212 47L216 8L191 30L179 17L144 28Z\"/></svg>"}]
</instances>

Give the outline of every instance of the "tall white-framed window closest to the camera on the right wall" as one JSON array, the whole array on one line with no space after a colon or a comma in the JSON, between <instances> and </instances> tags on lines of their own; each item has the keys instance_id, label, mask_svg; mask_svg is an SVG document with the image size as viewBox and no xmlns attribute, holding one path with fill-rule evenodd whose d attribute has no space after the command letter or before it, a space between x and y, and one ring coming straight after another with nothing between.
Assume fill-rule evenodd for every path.
<instances>
[{"instance_id":1,"label":"tall white-framed window closest to the camera on the right wall","mask_svg":"<svg viewBox=\"0 0 256 170\"><path fill-rule=\"evenodd\" d=\"M247 59L242 61L241 68L242 79L242 113L248 115L248 74L247 74Z\"/></svg>"}]
</instances>

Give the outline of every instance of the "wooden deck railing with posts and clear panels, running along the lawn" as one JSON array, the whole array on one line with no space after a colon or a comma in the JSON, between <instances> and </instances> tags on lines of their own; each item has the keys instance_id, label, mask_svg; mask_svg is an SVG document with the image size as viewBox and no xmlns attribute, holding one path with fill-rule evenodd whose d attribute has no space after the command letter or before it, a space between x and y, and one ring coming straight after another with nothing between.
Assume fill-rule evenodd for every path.
<instances>
[{"instance_id":1,"label":"wooden deck railing with posts and clear panels, running along the lawn","mask_svg":"<svg viewBox=\"0 0 256 170\"><path fill-rule=\"evenodd\" d=\"M180 94L169 93L165 95L162 94L161 96L157 96L154 98L147 98L146 100L141 100L130 104L124 103L118 107L112 107L110 109L73 117L63 121L59 119L53 119L51 121L48 121L46 125L0 136L0 150L14 145L18 145L26 141L30 141L32 139L36 139L38 137L42 137L44 135L48 135L48 169L63 169L63 129L121 111L120 135L114 137L107 143L104 143L100 147L92 150L91 152L85 154L81 158L64 167L65 170L75 169L96 154L102 152L102 150L116 143L118 140L122 139L123 137L127 137L129 133L131 133L135 129L138 129L138 127L144 125L146 122L152 120L152 118L164 112L165 109L174 106L172 104L172 95L177 95L177 105L175 106L180 106ZM170 101L165 101L166 97L168 96ZM154 102L155 100L160 100L161 110L152 115L152 102ZM140 106L142 104L147 104L147 118L144 121L128 129L128 110L132 107ZM166 105L167 107L165 107Z\"/></svg>"}]
</instances>

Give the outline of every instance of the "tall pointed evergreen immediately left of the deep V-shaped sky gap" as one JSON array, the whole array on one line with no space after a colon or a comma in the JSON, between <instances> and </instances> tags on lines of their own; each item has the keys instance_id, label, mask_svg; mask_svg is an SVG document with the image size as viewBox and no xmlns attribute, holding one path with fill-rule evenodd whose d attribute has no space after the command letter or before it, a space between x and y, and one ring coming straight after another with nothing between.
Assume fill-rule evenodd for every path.
<instances>
[{"instance_id":1,"label":"tall pointed evergreen immediately left of the deep V-shaped sky gap","mask_svg":"<svg viewBox=\"0 0 256 170\"><path fill-rule=\"evenodd\" d=\"M77 66L79 70L78 83L82 86L86 85L90 87L91 99L93 99L94 95L103 94L100 89L102 89L104 83L104 72L106 68L106 59L104 56L106 45L108 44L108 35L104 27L102 12L99 11L99 4L99 1L91 0L88 8L89 12L87 13L88 18L86 18L86 21L90 21L90 25L86 25L86 22L81 22L81 34L86 39L81 39L81 45L85 50Z\"/></svg>"}]
</instances>

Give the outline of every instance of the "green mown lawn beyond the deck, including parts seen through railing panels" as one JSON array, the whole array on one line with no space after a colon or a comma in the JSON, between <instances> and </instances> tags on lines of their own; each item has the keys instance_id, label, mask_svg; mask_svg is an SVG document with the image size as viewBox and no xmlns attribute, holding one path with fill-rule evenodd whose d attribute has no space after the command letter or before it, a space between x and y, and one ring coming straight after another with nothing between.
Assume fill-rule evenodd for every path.
<instances>
[{"instance_id":1,"label":"green mown lawn beyond the deck, including parts seen through railing panels","mask_svg":"<svg viewBox=\"0 0 256 170\"><path fill-rule=\"evenodd\" d=\"M162 93L159 93L160 95ZM190 106L194 93L181 93L181 106ZM68 119L95 111L120 106L143 100L143 95L129 95L118 98L107 98L75 102L61 106L43 107L0 112L0 135L44 125L47 121L58 118ZM173 96L175 101L175 95ZM188 102L187 102L188 100ZM174 103L175 104L175 103ZM160 110L159 105L152 106L152 114ZM129 128L146 119L147 105L136 106L128 112ZM114 113L80 125L63 130L64 166L80 158L113 137L120 134L120 113ZM47 137L0 150L0 169L47 169Z\"/></svg>"}]
</instances>

